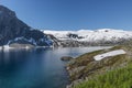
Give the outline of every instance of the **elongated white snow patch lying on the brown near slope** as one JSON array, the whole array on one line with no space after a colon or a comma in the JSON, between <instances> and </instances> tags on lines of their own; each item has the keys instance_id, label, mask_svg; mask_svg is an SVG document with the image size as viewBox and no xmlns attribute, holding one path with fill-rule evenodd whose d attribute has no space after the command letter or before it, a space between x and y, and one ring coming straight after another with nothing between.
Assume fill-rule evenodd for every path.
<instances>
[{"instance_id":1,"label":"elongated white snow patch lying on the brown near slope","mask_svg":"<svg viewBox=\"0 0 132 88\"><path fill-rule=\"evenodd\" d=\"M96 56L94 56L94 59L95 61L101 61L101 59L103 59L106 57L109 57L109 56L117 56L117 55L121 55L121 54L125 54L125 53L127 52L124 52L123 50L111 51L111 52L108 52L108 53L96 55Z\"/></svg>"}]
</instances>

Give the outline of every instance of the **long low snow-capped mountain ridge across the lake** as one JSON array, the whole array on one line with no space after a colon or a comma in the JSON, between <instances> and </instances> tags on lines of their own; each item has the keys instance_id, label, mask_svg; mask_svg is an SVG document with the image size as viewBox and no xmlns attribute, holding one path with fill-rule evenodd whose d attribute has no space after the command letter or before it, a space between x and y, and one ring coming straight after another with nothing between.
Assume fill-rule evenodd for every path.
<instances>
[{"instance_id":1,"label":"long low snow-capped mountain ridge across the lake","mask_svg":"<svg viewBox=\"0 0 132 88\"><path fill-rule=\"evenodd\" d=\"M132 31L100 29L79 31L43 31L45 34L54 35L62 46L88 46L120 44L132 38ZM54 38L52 38L54 41ZM55 43L56 44L56 43Z\"/></svg>"}]
</instances>

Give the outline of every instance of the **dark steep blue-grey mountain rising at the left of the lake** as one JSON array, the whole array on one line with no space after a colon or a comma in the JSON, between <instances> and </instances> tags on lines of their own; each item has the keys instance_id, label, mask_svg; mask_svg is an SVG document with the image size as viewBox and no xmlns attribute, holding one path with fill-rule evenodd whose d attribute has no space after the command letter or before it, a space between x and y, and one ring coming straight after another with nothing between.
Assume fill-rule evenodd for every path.
<instances>
[{"instance_id":1,"label":"dark steep blue-grey mountain rising at the left of the lake","mask_svg":"<svg viewBox=\"0 0 132 88\"><path fill-rule=\"evenodd\" d=\"M0 45L7 44L32 44L51 46L52 41L38 30L33 30L19 20L15 12L0 6Z\"/></svg>"}]
</instances>

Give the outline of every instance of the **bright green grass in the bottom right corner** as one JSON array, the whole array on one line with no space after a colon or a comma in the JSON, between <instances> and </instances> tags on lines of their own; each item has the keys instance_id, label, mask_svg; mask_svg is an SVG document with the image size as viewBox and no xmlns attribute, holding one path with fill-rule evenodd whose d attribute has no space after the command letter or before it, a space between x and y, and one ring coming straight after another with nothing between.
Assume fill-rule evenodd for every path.
<instances>
[{"instance_id":1,"label":"bright green grass in the bottom right corner","mask_svg":"<svg viewBox=\"0 0 132 88\"><path fill-rule=\"evenodd\" d=\"M108 72L73 88L132 88L132 62L127 67Z\"/></svg>"}]
</instances>

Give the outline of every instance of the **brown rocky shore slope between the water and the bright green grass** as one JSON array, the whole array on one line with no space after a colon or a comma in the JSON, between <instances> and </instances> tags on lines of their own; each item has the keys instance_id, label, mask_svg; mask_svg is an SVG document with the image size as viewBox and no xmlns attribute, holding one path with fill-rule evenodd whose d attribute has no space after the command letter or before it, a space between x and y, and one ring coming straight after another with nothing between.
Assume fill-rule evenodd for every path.
<instances>
[{"instance_id":1,"label":"brown rocky shore slope between the water and the bright green grass","mask_svg":"<svg viewBox=\"0 0 132 88\"><path fill-rule=\"evenodd\" d=\"M110 70L125 67L129 62L132 61L130 57L132 54L128 51L129 46L114 46L112 48L96 51L80 55L73 59L67 66L66 70L69 74L72 81L66 88L74 88L76 85L84 82L89 79L94 79L99 75L103 75ZM94 56L98 54L108 53L111 51L123 50L127 53L116 56L108 56L100 61L95 61Z\"/></svg>"}]
</instances>

